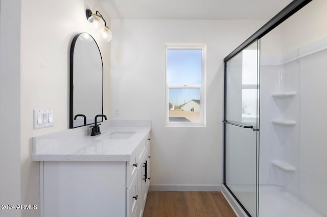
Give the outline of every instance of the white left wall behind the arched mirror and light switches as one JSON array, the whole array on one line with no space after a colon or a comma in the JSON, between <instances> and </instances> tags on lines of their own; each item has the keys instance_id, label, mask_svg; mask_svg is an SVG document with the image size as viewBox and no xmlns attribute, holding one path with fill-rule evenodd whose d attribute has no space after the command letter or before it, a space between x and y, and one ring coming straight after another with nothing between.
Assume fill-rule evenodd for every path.
<instances>
[{"instance_id":1,"label":"white left wall behind the arched mirror and light switches","mask_svg":"<svg viewBox=\"0 0 327 217\"><path fill-rule=\"evenodd\" d=\"M32 137L68 128L69 49L75 34L88 31L86 8L109 19L97 1L21 1L22 204L39 207L39 163L31 159ZM109 113L110 43L99 46L104 61L104 113ZM54 127L33 130L33 109L54 109ZM22 216L39 216L39 212L24 210Z\"/></svg>"}]
</instances>

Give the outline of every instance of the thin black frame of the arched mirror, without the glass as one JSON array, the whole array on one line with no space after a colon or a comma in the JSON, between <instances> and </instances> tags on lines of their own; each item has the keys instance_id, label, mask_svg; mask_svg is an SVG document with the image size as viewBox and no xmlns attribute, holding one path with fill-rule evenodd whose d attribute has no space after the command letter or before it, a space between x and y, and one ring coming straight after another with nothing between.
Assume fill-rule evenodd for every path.
<instances>
[{"instance_id":1,"label":"thin black frame of the arched mirror, without the glass","mask_svg":"<svg viewBox=\"0 0 327 217\"><path fill-rule=\"evenodd\" d=\"M73 113L73 100L74 100L74 98L73 98L73 92L74 92L74 84L73 84L73 78L74 78L74 49L75 49L76 41L77 41L78 37L81 34L88 34L88 33L82 32L82 33L78 33L77 35L75 35L74 38L73 38L73 40L72 40L71 50L69 51L69 129L77 128L77 127L83 127L83 126L87 126L87 125L91 125L91 124L95 124L95 123L90 123L90 124L86 124L86 125L81 125L81 126L74 127L74 113ZM100 48L99 48L99 45L98 45L97 41L90 34L88 34L88 35L96 43L96 45L98 47L98 50L99 50L99 53L100 53L100 57L101 57L101 65L102 65L102 105L101 105L101 113L103 114L103 60L102 60L101 51L100 51ZM103 122L103 118L98 123L100 123L100 122Z\"/></svg>"}]
</instances>

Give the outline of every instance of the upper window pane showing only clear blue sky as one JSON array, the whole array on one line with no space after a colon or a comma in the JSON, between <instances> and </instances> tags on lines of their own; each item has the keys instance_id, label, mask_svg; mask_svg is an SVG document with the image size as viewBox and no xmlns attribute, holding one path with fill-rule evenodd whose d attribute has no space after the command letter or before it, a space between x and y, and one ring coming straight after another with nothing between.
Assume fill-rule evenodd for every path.
<instances>
[{"instance_id":1,"label":"upper window pane showing only clear blue sky","mask_svg":"<svg viewBox=\"0 0 327 217\"><path fill-rule=\"evenodd\" d=\"M201 74L201 49L167 49L167 84L201 84Z\"/></svg>"}]
</instances>

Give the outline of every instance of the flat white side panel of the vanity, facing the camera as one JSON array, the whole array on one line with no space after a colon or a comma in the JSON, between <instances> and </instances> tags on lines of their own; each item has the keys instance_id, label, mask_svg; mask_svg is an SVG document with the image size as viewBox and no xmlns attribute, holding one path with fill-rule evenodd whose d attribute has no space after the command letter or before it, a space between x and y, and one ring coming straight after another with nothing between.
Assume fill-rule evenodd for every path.
<instances>
[{"instance_id":1,"label":"flat white side panel of the vanity, facing the camera","mask_svg":"<svg viewBox=\"0 0 327 217\"><path fill-rule=\"evenodd\" d=\"M41 216L126 215L125 162L45 161L40 166Z\"/></svg>"}]
</instances>

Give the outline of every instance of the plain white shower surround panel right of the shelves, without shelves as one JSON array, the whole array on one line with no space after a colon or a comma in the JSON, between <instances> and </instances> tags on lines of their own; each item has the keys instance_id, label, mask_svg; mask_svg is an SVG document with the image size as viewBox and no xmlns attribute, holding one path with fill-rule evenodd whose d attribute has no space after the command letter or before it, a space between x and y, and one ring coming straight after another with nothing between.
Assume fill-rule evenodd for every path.
<instances>
[{"instance_id":1,"label":"plain white shower surround panel right of the shelves, without shelves","mask_svg":"<svg viewBox=\"0 0 327 217\"><path fill-rule=\"evenodd\" d=\"M327 215L327 49L300 59L299 194Z\"/></svg>"}]
</instances>

